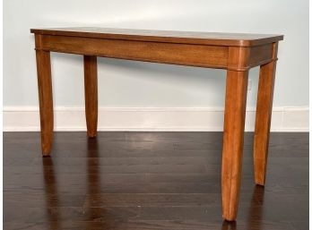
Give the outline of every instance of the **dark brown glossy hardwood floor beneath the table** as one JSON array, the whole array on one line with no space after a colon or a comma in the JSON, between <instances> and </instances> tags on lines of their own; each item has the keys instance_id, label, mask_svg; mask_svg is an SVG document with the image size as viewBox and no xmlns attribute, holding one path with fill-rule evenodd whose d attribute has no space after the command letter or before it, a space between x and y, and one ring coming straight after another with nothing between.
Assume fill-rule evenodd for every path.
<instances>
[{"instance_id":1,"label":"dark brown glossy hardwood floor beneath the table","mask_svg":"<svg viewBox=\"0 0 312 230\"><path fill-rule=\"evenodd\" d=\"M4 229L308 230L308 133L271 135L255 186L246 133L238 219L221 219L221 132L4 132Z\"/></svg>"}]
</instances>

